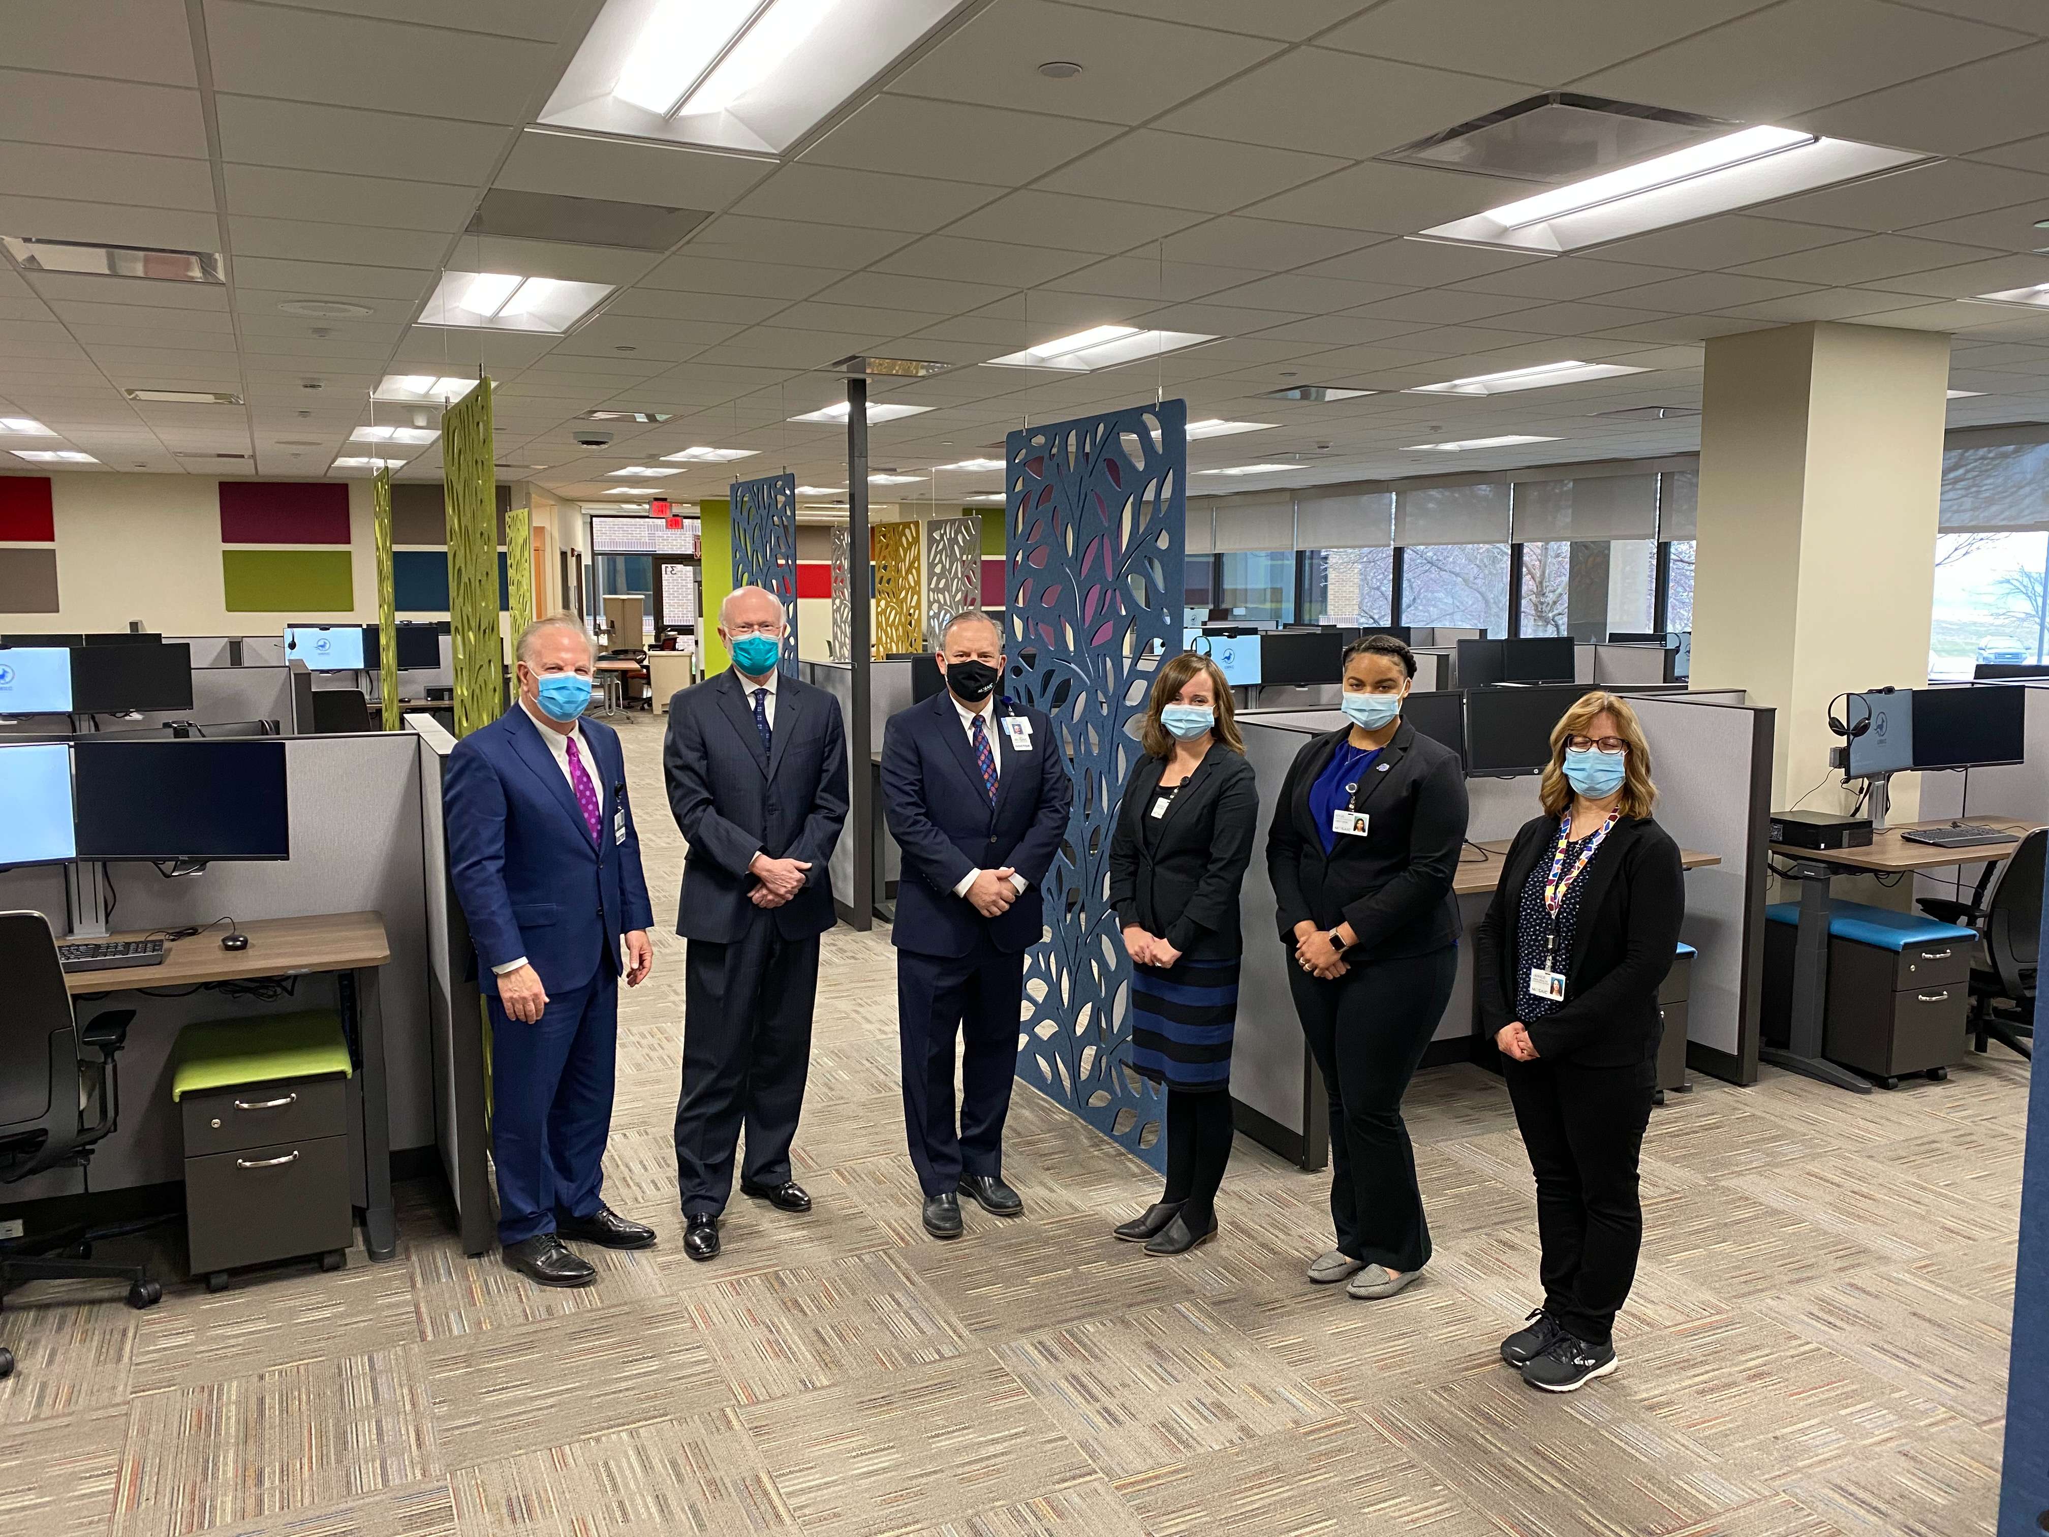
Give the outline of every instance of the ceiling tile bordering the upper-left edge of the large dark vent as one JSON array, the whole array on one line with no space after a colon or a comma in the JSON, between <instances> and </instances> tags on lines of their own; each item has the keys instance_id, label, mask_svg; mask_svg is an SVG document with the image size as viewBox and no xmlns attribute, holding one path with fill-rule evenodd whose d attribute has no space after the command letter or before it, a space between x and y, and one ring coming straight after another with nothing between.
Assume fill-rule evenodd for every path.
<instances>
[{"instance_id":1,"label":"ceiling tile bordering the upper-left edge of the large dark vent","mask_svg":"<svg viewBox=\"0 0 2049 1537\"><path fill-rule=\"evenodd\" d=\"M1301 47L1168 113L1158 127L1363 158L1527 94L1502 80Z\"/></svg>"}]
</instances>

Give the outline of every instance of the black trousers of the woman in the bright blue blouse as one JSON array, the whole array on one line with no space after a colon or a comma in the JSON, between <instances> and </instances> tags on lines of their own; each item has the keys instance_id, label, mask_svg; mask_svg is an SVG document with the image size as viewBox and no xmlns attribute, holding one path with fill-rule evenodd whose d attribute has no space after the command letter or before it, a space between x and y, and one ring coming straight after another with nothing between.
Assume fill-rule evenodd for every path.
<instances>
[{"instance_id":1,"label":"black trousers of the woman in the bright blue blouse","mask_svg":"<svg viewBox=\"0 0 2049 1537\"><path fill-rule=\"evenodd\" d=\"M1354 1260L1416 1271L1430 1260L1430 1223L1416 1189L1416 1152L1402 1096L1451 1002L1459 951L1354 965L1320 982L1287 961L1309 1051L1330 1090L1330 1221Z\"/></svg>"}]
</instances>

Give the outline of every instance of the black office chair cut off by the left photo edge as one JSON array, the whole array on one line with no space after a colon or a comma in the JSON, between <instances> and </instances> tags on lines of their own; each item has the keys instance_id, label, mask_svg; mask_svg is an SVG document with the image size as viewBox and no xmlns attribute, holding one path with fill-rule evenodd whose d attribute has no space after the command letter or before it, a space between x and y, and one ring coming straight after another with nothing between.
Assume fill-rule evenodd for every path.
<instances>
[{"instance_id":1,"label":"black office chair cut off by the left photo edge","mask_svg":"<svg viewBox=\"0 0 2049 1537\"><path fill-rule=\"evenodd\" d=\"M92 1148L121 1119L121 1076L115 1053L127 1043L133 1008L94 1014L84 1027L72 1012L57 965L57 941L41 912L0 912L0 978L8 1006L0 1010L0 1185L47 1168L84 1170ZM86 1119L86 1111L94 1111ZM154 1307L164 1287L145 1264L94 1260L92 1244L152 1223L70 1228L0 1242L0 1305L27 1281L127 1281L129 1307ZM0 1348L0 1377L14 1373L12 1351Z\"/></svg>"}]
</instances>

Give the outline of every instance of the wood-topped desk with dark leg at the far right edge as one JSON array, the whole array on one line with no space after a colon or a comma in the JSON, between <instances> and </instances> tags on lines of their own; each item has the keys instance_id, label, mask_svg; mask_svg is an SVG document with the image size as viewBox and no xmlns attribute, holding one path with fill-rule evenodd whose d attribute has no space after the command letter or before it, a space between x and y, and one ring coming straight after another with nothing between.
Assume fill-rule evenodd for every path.
<instances>
[{"instance_id":1,"label":"wood-topped desk with dark leg at the far right edge","mask_svg":"<svg viewBox=\"0 0 2049 1537\"><path fill-rule=\"evenodd\" d=\"M1867 848L1795 848L1774 842L1770 850L1793 861L1793 879L1799 881L1799 928L1793 934L1793 1010L1787 1043L1758 1047L1758 1057L1774 1068L1817 1078L1852 1094L1869 1094L1871 1082L1848 1068L1838 1068L1822 1055L1822 1029L1828 1008L1828 920L1834 910L1828 883L1836 875L1912 875L1914 871L1940 869L1945 865L1996 865L2012 859L2018 842L1979 842L1965 848L1936 848L1926 842L1908 842L1901 832L1918 828L1947 828L1955 818L1934 822L1895 822L1885 832L1871 834ZM2014 838L2024 838L2039 822L2020 822L2010 816L1973 816L1969 826L1998 828Z\"/></svg>"}]
</instances>

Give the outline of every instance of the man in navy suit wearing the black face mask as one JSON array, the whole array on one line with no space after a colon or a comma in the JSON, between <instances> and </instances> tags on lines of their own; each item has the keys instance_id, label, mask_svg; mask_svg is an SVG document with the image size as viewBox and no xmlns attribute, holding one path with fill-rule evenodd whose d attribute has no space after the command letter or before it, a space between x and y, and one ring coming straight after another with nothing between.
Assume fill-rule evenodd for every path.
<instances>
[{"instance_id":1,"label":"man in navy suit wearing the black face mask","mask_svg":"<svg viewBox=\"0 0 2049 1537\"><path fill-rule=\"evenodd\" d=\"M1053 723L996 697L1002 631L957 615L938 641L947 689L883 730L883 801L904 850L897 916L897 1031L904 1123L924 1191L924 1230L961 1236L961 1195L984 1211L1024 1209L1004 1185L1004 1117L1018 1060L1024 951L1045 928L1045 881L1068 832L1074 787ZM961 1111L955 1039L965 1039Z\"/></svg>"}]
</instances>

